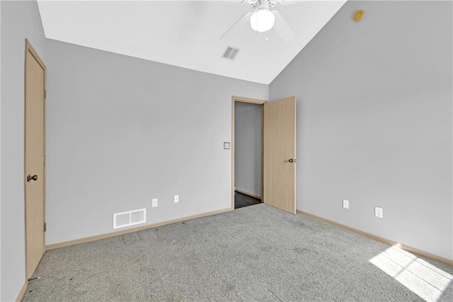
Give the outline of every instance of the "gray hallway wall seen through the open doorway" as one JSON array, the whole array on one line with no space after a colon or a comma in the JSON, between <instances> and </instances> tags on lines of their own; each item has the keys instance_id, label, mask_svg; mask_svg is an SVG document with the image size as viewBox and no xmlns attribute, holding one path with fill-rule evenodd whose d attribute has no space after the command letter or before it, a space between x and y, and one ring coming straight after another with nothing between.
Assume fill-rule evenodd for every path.
<instances>
[{"instance_id":1,"label":"gray hallway wall seen through the open doorway","mask_svg":"<svg viewBox=\"0 0 453 302\"><path fill-rule=\"evenodd\" d=\"M261 196L263 106L235 102L234 186Z\"/></svg>"}]
</instances>

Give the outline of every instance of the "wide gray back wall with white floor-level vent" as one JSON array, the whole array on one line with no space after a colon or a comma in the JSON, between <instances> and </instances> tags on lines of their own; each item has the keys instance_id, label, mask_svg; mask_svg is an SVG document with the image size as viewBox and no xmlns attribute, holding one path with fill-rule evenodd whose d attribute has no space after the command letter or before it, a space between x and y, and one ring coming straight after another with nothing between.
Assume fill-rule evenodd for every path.
<instances>
[{"instance_id":1,"label":"wide gray back wall with white floor-level vent","mask_svg":"<svg viewBox=\"0 0 453 302\"><path fill-rule=\"evenodd\" d=\"M268 85L55 40L47 54L47 244L112 232L113 213L231 207L231 95Z\"/></svg>"}]
</instances>

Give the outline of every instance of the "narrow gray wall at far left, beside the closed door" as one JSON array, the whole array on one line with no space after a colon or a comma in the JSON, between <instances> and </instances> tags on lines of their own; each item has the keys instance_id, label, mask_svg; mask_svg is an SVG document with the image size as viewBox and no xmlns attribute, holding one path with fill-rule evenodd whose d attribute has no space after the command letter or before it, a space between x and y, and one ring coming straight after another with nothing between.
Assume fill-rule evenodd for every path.
<instances>
[{"instance_id":1,"label":"narrow gray wall at far left, beside the closed door","mask_svg":"<svg viewBox=\"0 0 453 302\"><path fill-rule=\"evenodd\" d=\"M46 62L36 1L1 6L1 301L17 298L25 283L23 195L25 38Z\"/></svg>"}]
</instances>

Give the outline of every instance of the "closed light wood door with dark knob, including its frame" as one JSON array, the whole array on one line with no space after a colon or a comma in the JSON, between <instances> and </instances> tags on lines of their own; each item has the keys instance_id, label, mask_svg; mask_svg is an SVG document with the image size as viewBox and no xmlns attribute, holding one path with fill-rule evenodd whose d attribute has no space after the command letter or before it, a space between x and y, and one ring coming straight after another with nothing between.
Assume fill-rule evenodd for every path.
<instances>
[{"instance_id":1,"label":"closed light wood door with dark knob, including its frame","mask_svg":"<svg viewBox=\"0 0 453 302\"><path fill-rule=\"evenodd\" d=\"M45 76L33 47L25 47L25 261L27 278L45 252Z\"/></svg>"}]
</instances>

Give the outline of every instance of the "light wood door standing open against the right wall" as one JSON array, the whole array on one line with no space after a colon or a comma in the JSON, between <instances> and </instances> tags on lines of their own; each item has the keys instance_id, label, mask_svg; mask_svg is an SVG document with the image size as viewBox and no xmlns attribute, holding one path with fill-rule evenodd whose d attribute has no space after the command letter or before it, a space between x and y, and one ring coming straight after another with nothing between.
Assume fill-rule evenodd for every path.
<instances>
[{"instance_id":1,"label":"light wood door standing open against the right wall","mask_svg":"<svg viewBox=\"0 0 453 302\"><path fill-rule=\"evenodd\" d=\"M296 213L296 97L264 104L263 202Z\"/></svg>"}]
</instances>

